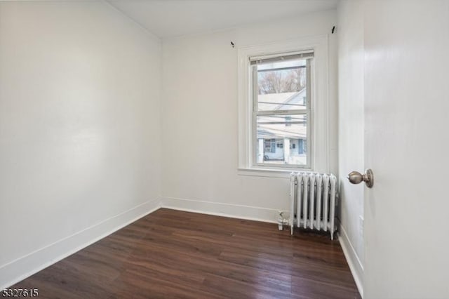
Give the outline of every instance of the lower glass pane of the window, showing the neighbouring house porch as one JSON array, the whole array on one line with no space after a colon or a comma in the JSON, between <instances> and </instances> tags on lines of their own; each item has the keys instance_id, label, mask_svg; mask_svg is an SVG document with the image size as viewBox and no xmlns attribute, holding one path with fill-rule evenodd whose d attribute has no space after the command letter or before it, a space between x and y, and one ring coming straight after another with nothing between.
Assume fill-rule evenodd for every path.
<instances>
[{"instance_id":1,"label":"lower glass pane of the window, showing the neighbouring house porch","mask_svg":"<svg viewBox=\"0 0 449 299\"><path fill-rule=\"evenodd\" d=\"M256 161L262 164L307 164L305 114L257 117Z\"/></svg>"}]
</instances>

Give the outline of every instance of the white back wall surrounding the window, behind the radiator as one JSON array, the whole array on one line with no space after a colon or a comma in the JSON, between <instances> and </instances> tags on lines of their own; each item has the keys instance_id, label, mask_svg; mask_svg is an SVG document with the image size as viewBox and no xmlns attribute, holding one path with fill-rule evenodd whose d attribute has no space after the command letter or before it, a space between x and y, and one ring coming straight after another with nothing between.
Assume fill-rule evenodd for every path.
<instances>
[{"instance_id":1,"label":"white back wall surrounding the window, behind the radiator","mask_svg":"<svg viewBox=\"0 0 449 299\"><path fill-rule=\"evenodd\" d=\"M239 47L330 34L335 20L335 11L324 11L163 40L164 205L271 221L278 209L288 210L288 179L237 171L237 48L230 42ZM335 58L334 34L330 35L333 172L337 171Z\"/></svg>"}]
</instances>

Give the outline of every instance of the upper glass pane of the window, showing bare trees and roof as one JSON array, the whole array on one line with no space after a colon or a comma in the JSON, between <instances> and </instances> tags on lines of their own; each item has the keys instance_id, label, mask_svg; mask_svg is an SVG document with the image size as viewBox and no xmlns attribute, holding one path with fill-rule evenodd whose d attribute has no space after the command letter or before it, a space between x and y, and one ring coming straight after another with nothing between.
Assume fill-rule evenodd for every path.
<instances>
[{"instance_id":1,"label":"upper glass pane of the window, showing bare trees and roof","mask_svg":"<svg viewBox=\"0 0 449 299\"><path fill-rule=\"evenodd\" d=\"M307 108L306 60L257 65L259 111Z\"/></svg>"}]
</instances>

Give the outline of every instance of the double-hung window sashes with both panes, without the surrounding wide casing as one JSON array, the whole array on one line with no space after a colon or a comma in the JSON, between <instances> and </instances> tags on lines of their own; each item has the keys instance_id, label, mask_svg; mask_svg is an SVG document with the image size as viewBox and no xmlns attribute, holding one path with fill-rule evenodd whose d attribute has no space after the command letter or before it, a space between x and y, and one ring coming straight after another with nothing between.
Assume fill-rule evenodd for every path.
<instances>
[{"instance_id":1,"label":"double-hung window sashes with both panes, without the surrounding wide casing","mask_svg":"<svg viewBox=\"0 0 449 299\"><path fill-rule=\"evenodd\" d=\"M313 59L313 51L249 58L255 165L310 168L310 151L290 145L301 140L302 146L311 135Z\"/></svg>"}]
</instances>

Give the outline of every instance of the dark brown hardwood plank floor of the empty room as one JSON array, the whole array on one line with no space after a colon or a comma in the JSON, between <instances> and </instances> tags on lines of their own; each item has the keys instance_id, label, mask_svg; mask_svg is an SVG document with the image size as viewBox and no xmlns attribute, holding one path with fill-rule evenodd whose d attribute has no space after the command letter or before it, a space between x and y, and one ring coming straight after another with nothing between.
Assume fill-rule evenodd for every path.
<instances>
[{"instance_id":1,"label":"dark brown hardwood plank floor of the empty room","mask_svg":"<svg viewBox=\"0 0 449 299\"><path fill-rule=\"evenodd\" d=\"M166 208L11 288L39 288L39 298L360 298L328 235Z\"/></svg>"}]
</instances>

